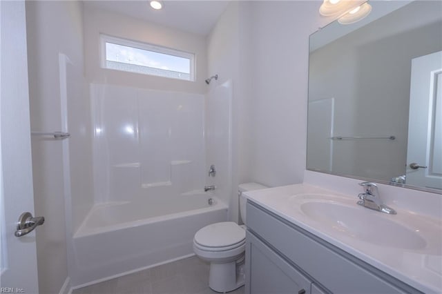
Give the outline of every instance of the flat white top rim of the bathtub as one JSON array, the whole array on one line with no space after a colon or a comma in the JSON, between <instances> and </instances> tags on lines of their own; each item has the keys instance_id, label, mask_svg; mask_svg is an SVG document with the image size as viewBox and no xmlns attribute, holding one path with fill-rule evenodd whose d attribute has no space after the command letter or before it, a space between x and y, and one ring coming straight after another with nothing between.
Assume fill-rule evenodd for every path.
<instances>
[{"instance_id":1,"label":"flat white top rim of the bathtub","mask_svg":"<svg viewBox=\"0 0 442 294\"><path fill-rule=\"evenodd\" d=\"M222 202L218 197L213 196L213 198L215 199L215 204L212 206L204 207L204 208L186 210L186 211L182 211L180 213L172 213L169 215L160 215L157 217L148 217L146 219L139 219L139 220L135 220L132 222L124 222L121 224L114 224L111 226L103 226L103 227L99 227L99 228L87 228L86 223L88 221L88 218L90 217L90 215L92 213L95 212L95 210L102 208L103 206L116 206L119 204L127 204L130 202L106 202L104 204L96 204L93 206L93 208L90 209L88 215L86 215L83 222L81 222L81 226L79 226L77 231L74 233L73 237L74 238L86 237L86 236L95 235L95 234L99 234L99 233L107 233L110 231L122 230L124 228L135 228L137 226L142 226L145 224L153 224L155 222L162 222L162 221L169 220L169 219L186 217L186 216L194 215L194 214L198 214L198 213L204 213L204 212L209 212L209 211L213 211L213 210L222 210L222 209L229 208L229 206L227 206L227 204Z\"/></svg>"}]
</instances>

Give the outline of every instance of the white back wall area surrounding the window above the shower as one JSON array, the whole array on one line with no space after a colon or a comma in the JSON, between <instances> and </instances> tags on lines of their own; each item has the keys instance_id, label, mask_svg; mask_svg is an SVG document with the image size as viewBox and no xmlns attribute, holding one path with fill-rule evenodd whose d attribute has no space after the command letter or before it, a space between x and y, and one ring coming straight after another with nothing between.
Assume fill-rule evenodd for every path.
<instances>
[{"instance_id":1,"label":"white back wall area surrounding the window above the shower","mask_svg":"<svg viewBox=\"0 0 442 294\"><path fill-rule=\"evenodd\" d=\"M123 14L98 10L87 1L84 3L84 28L85 70L86 79L90 83L204 94L206 90L204 79L207 78L204 37L126 17ZM195 81L165 79L164 77L100 68L100 33L185 52L194 52L196 58Z\"/></svg>"}]
</instances>

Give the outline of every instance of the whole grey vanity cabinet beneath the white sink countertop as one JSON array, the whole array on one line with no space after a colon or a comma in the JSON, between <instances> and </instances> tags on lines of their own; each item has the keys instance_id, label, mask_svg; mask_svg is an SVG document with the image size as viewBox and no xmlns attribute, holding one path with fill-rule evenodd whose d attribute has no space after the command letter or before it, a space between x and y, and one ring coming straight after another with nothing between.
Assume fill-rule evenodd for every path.
<instances>
[{"instance_id":1,"label":"whole grey vanity cabinet beneath the white sink countertop","mask_svg":"<svg viewBox=\"0 0 442 294\"><path fill-rule=\"evenodd\" d=\"M246 293L421 293L248 200Z\"/></svg>"}]
</instances>

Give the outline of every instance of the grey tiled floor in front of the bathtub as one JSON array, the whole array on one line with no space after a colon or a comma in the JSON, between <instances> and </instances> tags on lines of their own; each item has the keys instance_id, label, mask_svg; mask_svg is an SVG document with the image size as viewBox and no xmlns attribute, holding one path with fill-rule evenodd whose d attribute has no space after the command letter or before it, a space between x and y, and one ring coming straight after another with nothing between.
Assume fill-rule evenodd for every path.
<instances>
[{"instance_id":1,"label":"grey tiled floor in front of the bathtub","mask_svg":"<svg viewBox=\"0 0 442 294\"><path fill-rule=\"evenodd\" d=\"M73 294L213 294L209 263L198 257L163 264L73 291ZM244 286L229 294L244 294Z\"/></svg>"}]
</instances>

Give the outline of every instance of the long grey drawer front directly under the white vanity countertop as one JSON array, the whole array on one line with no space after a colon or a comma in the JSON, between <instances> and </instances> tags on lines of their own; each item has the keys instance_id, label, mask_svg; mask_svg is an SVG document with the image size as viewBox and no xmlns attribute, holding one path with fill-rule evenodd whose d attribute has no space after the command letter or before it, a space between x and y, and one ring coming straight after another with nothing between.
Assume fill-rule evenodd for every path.
<instances>
[{"instance_id":1,"label":"long grey drawer front directly under the white vanity countertop","mask_svg":"<svg viewBox=\"0 0 442 294\"><path fill-rule=\"evenodd\" d=\"M334 293L420 293L250 201L247 226Z\"/></svg>"}]
</instances>

